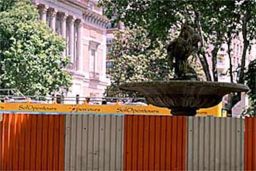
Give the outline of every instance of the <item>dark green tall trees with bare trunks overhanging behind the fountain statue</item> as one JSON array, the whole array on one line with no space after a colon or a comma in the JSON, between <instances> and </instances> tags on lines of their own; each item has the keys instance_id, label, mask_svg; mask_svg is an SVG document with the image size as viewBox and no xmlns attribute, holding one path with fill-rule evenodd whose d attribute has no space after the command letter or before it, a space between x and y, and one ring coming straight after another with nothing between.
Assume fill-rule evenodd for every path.
<instances>
[{"instance_id":1,"label":"dark green tall trees with bare trunks overhanging behind the fountain statue","mask_svg":"<svg viewBox=\"0 0 256 171\"><path fill-rule=\"evenodd\" d=\"M211 81L218 81L216 60L221 45L229 45L228 54L231 58L230 43L238 33L242 32L244 39L241 57L241 74L239 83L244 84L245 57L255 38L255 1L167 1L167 0L101 0L100 5L105 7L108 17L116 16L116 21L121 20L128 28L141 26L148 32L147 38L152 44L157 41L166 41L169 30L179 30L184 19L194 24L201 36L201 48L196 54L202 65L205 77ZM208 52L207 46L213 48ZM211 57L212 72L210 74L207 57ZM229 68L232 78L232 63ZM241 100L241 94L231 95L230 108Z\"/></svg>"}]
</instances>

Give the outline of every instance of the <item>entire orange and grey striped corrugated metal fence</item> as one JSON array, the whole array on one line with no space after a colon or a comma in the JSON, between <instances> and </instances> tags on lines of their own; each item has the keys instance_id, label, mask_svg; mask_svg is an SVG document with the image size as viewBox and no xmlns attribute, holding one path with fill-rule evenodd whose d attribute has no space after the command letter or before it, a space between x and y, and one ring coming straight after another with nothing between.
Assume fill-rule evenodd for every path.
<instances>
[{"instance_id":1,"label":"entire orange and grey striped corrugated metal fence","mask_svg":"<svg viewBox=\"0 0 256 171\"><path fill-rule=\"evenodd\" d=\"M256 117L4 113L0 170L256 170Z\"/></svg>"}]
</instances>

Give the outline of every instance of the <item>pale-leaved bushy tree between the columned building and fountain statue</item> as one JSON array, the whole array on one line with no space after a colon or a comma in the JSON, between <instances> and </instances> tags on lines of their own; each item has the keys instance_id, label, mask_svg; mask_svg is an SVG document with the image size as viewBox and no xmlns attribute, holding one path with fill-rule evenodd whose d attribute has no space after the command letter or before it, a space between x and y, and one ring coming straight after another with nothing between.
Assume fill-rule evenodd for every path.
<instances>
[{"instance_id":1,"label":"pale-leaved bushy tree between the columned building and fountain statue","mask_svg":"<svg viewBox=\"0 0 256 171\"><path fill-rule=\"evenodd\" d=\"M173 76L166 61L166 50L158 42L155 48L150 47L147 32L138 28L122 30L116 33L109 59L114 60L113 68L109 69L111 85L108 96L133 95L118 89L121 82L166 80Z\"/></svg>"}]
</instances>

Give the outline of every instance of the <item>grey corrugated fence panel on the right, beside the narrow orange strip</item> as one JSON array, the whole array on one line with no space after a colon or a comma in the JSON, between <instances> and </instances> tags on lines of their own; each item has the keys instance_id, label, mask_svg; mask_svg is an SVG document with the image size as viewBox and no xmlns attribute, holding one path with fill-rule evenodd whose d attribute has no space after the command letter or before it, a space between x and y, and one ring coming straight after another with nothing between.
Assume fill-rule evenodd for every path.
<instances>
[{"instance_id":1,"label":"grey corrugated fence panel on the right, beside the narrow orange strip","mask_svg":"<svg viewBox=\"0 0 256 171\"><path fill-rule=\"evenodd\" d=\"M242 170L244 120L189 117L187 170Z\"/></svg>"}]
</instances>

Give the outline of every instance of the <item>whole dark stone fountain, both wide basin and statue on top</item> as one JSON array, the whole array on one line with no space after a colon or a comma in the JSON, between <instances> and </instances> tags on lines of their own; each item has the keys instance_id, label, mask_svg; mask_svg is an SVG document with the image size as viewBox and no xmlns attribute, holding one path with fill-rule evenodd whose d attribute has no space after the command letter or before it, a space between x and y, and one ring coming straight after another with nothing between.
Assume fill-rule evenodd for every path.
<instances>
[{"instance_id":1,"label":"whole dark stone fountain, both wide basin and statue on top","mask_svg":"<svg viewBox=\"0 0 256 171\"><path fill-rule=\"evenodd\" d=\"M174 68L174 79L122 83L119 89L137 91L149 104L169 108L176 116L195 116L197 109L218 105L228 93L247 92L249 87L244 84L199 81L187 61L198 49L199 41L200 36L186 21L179 37L168 46L168 62Z\"/></svg>"}]
</instances>

